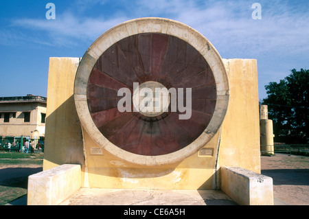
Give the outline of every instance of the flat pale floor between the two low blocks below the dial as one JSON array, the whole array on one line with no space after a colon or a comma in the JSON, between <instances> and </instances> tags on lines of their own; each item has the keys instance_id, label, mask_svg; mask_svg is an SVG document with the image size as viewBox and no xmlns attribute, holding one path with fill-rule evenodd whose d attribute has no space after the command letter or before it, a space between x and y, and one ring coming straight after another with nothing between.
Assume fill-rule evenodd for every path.
<instances>
[{"instance_id":1,"label":"flat pale floor between the two low blocks below the dial","mask_svg":"<svg viewBox=\"0 0 309 219\"><path fill-rule=\"evenodd\" d=\"M60 205L237 205L220 190L80 188Z\"/></svg>"}]
</instances>

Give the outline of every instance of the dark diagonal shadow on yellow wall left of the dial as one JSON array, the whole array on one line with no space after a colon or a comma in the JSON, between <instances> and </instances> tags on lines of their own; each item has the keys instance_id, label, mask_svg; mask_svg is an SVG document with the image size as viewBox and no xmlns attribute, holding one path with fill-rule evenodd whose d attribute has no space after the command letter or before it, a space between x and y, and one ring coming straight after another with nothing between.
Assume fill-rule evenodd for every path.
<instances>
[{"instance_id":1,"label":"dark diagonal shadow on yellow wall left of the dial","mask_svg":"<svg viewBox=\"0 0 309 219\"><path fill-rule=\"evenodd\" d=\"M54 166L65 163L84 166L82 147L80 120L71 95L46 118L44 170L49 169L47 166L50 166L50 163L54 163Z\"/></svg>"}]
</instances>

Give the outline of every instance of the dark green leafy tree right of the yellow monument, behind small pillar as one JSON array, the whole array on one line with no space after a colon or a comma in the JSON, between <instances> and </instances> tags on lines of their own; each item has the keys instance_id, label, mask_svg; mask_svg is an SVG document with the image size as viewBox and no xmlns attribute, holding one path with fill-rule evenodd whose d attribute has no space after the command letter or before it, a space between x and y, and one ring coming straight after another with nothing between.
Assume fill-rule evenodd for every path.
<instances>
[{"instance_id":1,"label":"dark green leafy tree right of the yellow monument, behind small pillar","mask_svg":"<svg viewBox=\"0 0 309 219\"><path fill-rule=\"evenodd\" d=\"M265 86L268 119L273 119L276 142L308 143L309 70L291 70L291 74Z\"/></svg>"}]
</instances>

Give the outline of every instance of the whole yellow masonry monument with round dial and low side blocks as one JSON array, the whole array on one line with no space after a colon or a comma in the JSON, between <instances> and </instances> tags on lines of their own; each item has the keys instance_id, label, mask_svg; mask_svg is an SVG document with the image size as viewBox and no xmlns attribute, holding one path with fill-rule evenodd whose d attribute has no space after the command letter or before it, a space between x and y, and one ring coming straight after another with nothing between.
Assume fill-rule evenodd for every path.
<instances>
[{"instance_id":1,"label":"whole yellow masonry monument with round dial and low side blocks","mask_svg":"<svg viewBox=\"0 0 309 219\"><path fill-rule=\"evenodd\" d=\"M141 43L138 52L137 41ZM176 62L179 56L183 57ZM137 69L128 71L133 65ZM171 70L174 66L176 70ZM148 76L147 67L151 69ZM135 77L138 70L143 75ZM161 71L165 73L160 79L165 83L162 87L172 83L166 80L169 77L176 86L188 82L190 86L183 88L203 88L195 91L195 101L209 102L195 102L195 117L186 122L172 112L159 111L158 117L150 118L141 111L119 111L116 91L124 88L125 81L159 84ZM194 78L201 75L206 79ZM193 135L196 130L198 135ZM142 137L146 140L141 141ZM68 172L72 177L67 177ZM260 172L257 60L221 58L202 34L161 18L135 19L111 28L82 58L49 58L45 156L43 172L28 184L34 194L29 196L31 205L39 204L41 198L49 205L60 203L63 197L54 200L45 193L49 188L50 194L59 192L63 183L74 185L74 191L78 187L221 189L241 205L273 205L272 179Z\"/></svg>"}]
</instances>

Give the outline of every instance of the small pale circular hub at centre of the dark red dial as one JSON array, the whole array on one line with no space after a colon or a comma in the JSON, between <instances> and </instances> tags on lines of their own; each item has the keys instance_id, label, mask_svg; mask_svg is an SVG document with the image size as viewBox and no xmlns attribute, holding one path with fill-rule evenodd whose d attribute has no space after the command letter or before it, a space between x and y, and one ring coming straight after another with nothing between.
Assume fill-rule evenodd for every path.
<instances>
[{"instance_id":1,"label":"small pale circular hub at centre of the dark red dial","mask_svg":"<svg viewBox=\"0 0 309 219\"><path fill-rule=\"evenodd\" d=\"M156 117L168 111L170 95L168 89L161 83L148 81L134 87L133 107L147 117Z\"/></svg>"}]
</instances>

